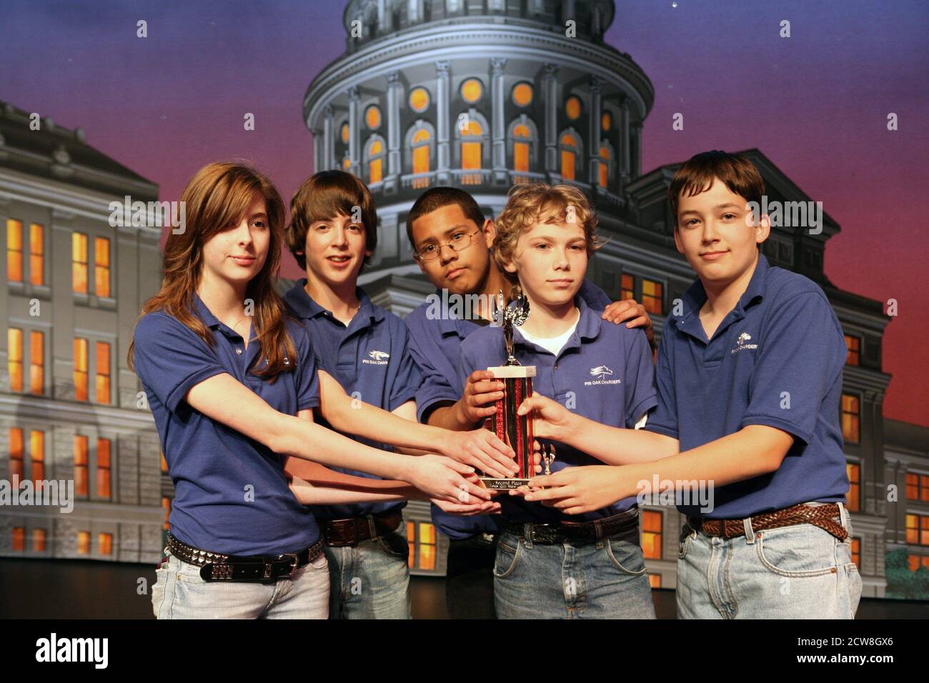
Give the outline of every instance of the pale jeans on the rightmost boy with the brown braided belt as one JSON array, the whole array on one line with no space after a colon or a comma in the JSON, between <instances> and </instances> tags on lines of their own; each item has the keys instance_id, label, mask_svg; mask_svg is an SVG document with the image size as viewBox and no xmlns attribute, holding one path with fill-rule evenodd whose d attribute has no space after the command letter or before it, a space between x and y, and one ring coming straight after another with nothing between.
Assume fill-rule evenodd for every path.
<instances>
[{"instance_id":1,"label":"pale jeans on the rightmost boy with the brown braided belt","mask_svg":"<svg viewBox=\"0 0 929 683\"><path fill-rule=\"evenodd\" d=\"M807 504L810 505L810 504ZM815 504L814 504L815 505ZM861 576L839 503L840 542L813 524L718 538L685 524L677 554L678 619L854 619Z\"/></svg>"}]
</instances>

